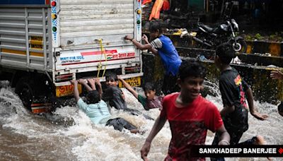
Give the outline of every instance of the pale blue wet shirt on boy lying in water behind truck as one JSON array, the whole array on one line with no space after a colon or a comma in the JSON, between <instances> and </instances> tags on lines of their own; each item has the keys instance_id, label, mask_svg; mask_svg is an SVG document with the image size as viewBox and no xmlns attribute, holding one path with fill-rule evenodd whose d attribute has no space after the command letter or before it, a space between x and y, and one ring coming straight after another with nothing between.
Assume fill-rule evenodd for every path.
<instances>
[{"instance_id":1,"label":"pale blue wet shirt on boy lying in water behind truck","mask_svg":"<svg viewBox=\"0 0 283 161\"><path fill-rule=\"evenodd\" d=\"M86 113L94 124L106 124L111 117L107 104L103 100L100 100L100 102L96 104L88 105L80 98L78 106L79 109Z\"/></svg>"}]
</instances>

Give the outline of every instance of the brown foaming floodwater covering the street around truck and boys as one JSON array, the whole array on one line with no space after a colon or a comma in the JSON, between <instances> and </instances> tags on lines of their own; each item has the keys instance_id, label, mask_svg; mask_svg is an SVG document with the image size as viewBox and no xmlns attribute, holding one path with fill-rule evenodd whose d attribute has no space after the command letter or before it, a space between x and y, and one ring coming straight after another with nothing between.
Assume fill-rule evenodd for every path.
<instances>
[{"instance_id":1,"label":"brown foaming floodwater covering the street around truck and boys","mask_svg":"<svg viewBox=\"0 0 283 161\"><path fill-rule=\"evenodd\" d=\"M215 88L214 88L215 89ZM144 111L127 90L129 108L139 109L156 118L158 109ZM221 98L208 95L207 99L221 108ZM283 145L283 117L277 107L255 102L258 111L268 114L266 121L259 121L250 114L250 128L244 133L244 141L256 134L265 137L268 144ZM14 93L8 82L0 81L0 160L141 160L139 150L154 121L112 110L117 117L124 117L146 131L144 135L129 131L115 131L111 127L91 124L86 114L77 107L62 107L55 112L64 120L52 122L45 117L30 114ZM70 121L71 120L71 121ZM168 150L171 131L168 122L151 145L149 160L163 160ZM213 133L209 132L207 144L211 144ZM283 158L274 158L281 160ZM209 158L207 158L209 160ZM266 158L227 158L227 160L266 160Z\"/></svg>"}]
</instances>

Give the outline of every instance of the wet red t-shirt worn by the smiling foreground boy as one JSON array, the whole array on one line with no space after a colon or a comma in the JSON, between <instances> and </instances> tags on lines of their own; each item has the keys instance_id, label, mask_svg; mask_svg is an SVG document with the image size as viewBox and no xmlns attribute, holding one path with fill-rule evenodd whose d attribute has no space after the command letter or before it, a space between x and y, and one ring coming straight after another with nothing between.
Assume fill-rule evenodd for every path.
<instances>
[{"instance_id":1,"label":"wet red t-shirt worn by the smiling foreground boy","mask_svg":"<svg viewBox=\"0 0 283 161\"><path fill-rule=\"evenodd\" d=\"M215 132L223 125L218 109L212 102L199 96L187 107L176 107L180 93L166 95L161 117L168 119L172 138L165 160L204 160L191 158L190 145L204 145L207 129Z\"/></svg>"}]
</instances>

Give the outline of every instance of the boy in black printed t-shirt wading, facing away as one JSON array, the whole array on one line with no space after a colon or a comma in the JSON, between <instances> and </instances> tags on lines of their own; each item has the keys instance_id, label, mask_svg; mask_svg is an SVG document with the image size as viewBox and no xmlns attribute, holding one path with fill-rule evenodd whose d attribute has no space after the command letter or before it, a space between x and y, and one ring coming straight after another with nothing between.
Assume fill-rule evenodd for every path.
<instances>
[{"instance_id":1,"label":"boy in black printed t-shirt wading, facing away","mask_svg":"<svg viewBox=\"0 0 283 161\"><path fill-rule=\"evenodd\" d=\"M223 101L224 108L220 114L224 121L224 125L230 134L231 145L236 145L240 141L243 133L248 130L248 107L250 114L256 119L265 120L268 116L255 111L253 105L253 93L246 81L243 81L238 71L230 66L231 60L236 56L231 44L221 44L216 49L214 64L220 69L219 89ZM246 97L248 97L248 107L246 105ZM213 141L213 145L219 143L219 133ZM262 136L254 136L253 138L241 144L265 144ZM224 160L224 158L211 158L212 160Z\"/></svg>"}]
</instances>

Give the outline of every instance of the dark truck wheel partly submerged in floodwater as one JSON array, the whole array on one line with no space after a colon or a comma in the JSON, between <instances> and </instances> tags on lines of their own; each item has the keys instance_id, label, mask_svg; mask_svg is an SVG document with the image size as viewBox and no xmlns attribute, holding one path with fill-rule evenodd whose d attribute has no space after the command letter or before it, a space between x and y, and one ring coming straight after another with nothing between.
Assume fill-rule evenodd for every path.
<instances>
[{"instance_id":1,"label":"dark truck wheel partly submerged in floodwater","mask_svg":"<svg viewBox=\"0 0 283 161\"><path fill-rule=\"evenodd\" d=\"M31 111L31 104L34 99L33 81L28 78L21 78L16 84L15 92L23 101L23 105Z\"/></svg>"}]
</instances>

